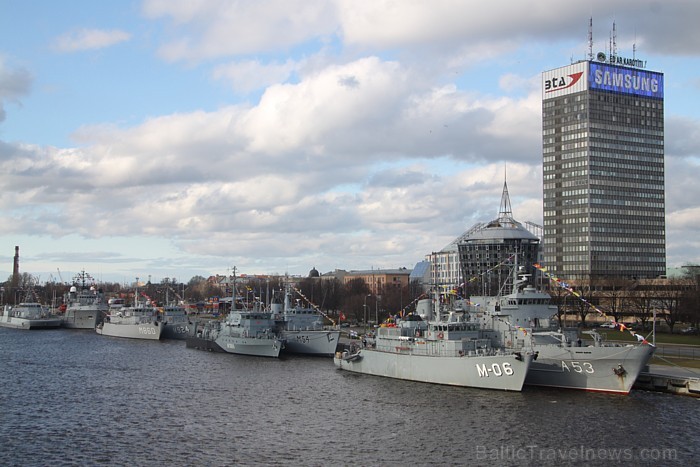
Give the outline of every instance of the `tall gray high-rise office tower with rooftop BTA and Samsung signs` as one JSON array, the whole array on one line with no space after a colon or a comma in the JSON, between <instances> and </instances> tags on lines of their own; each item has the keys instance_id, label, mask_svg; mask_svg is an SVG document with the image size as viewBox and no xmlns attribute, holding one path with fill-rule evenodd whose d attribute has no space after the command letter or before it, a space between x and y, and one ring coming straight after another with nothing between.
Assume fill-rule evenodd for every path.
<instances>
[{"instance_id":1,"label":"tall gray high-rise office tower with rooftop BTA and Samsung signs","mask_svg":"<svg viewBox=\"0 0 700 467\"><path fill-rule=\"evenodd\" d=\"M665 273L664 76L599 53L542 74L544 248L571 280Z\"/></svg>"}]
</instances>

